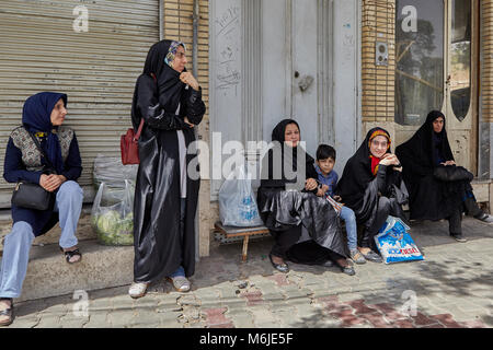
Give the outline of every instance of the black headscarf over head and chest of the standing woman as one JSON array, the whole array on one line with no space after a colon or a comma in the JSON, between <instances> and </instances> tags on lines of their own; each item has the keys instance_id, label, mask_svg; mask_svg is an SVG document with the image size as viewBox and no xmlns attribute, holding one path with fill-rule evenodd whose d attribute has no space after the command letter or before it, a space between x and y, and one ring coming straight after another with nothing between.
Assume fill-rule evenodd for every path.
<instances>
[{"instance_id":1,"label":"black headscarf over head and chest of the standing woman","mask_svg":"<svg viewBox=\"0 0 493 350\"><path fill-rule=\"evenodd\" d=\"M156 43L147 54L146 63L144 66L144 73L154 74L158 82L159 103L164 110L174 113L180 103L182 90L185 83L180 80L181 72L175 71L169 66L167 60L170 59L172 51L184 44L173 40L161 40ZM183 70L184 72L186 69Z\"/></svg>"}]
</instances>

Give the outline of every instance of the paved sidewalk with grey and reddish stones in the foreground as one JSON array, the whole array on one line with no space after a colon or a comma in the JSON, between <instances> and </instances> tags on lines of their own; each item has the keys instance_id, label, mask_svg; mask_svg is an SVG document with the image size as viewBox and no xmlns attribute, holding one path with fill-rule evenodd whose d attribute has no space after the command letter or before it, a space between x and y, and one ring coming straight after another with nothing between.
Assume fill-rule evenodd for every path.
<instances>
[{"instance_id":1,"label":"paved sidewalk with grey and reddish stones in the foreground","mask_svg":"<svg viewBox=\"0 0 493 350\"><path fill-rule=\"evenodd\" d=\"M394 327L493 326L493 225L466 218L467 243L448 237L447 222L413 223L424 261L367 262L349 277L337 268L290 264L273 269L272 238L213 246L177 293L169 282L133 300L128 287L15 304L15 327ZM76 299L73 299L76 296Z\"/></svg>"}]
</instances>

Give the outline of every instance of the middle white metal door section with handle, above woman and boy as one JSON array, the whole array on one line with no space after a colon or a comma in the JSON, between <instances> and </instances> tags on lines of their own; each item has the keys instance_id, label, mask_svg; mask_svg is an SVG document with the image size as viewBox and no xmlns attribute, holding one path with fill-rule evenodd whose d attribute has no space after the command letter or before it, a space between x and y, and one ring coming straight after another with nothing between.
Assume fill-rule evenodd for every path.
<instances>
[{"instance_id":1,"label":"middle white metal door section with handle, above woman and boy","mask_svg":"<svg viewBox=\"0 0 493 350\"><path fill-rule=\"evenodd\" d=\"M294 118L300 126L307 151L314 156L320 141L321 113L318 77L322 69L318 47L320 3L317 0L270 0L262 5L263 138L271 140L271 132L278 121ZM330 37L324 39L330 40ZM329 115L321 117L332 118ZM332 136L332 130L325 132Z\"/></svg>"}]
</instances>

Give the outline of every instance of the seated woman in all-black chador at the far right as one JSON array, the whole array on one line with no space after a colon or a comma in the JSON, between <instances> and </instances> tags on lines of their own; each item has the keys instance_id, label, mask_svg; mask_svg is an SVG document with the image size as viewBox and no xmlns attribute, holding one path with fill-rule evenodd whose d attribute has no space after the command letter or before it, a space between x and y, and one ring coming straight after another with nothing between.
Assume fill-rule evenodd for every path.
<instances>
[{"instance_id":1,"label":"seated woman in all-black chador at the far right","mask_svg":"<svg viewBox=\"0 0 493 350\"><path fill-rule=\"evenodd\" d=\"M455 166L454 155L445 130L445 116L432 110L425 124L406 142L395 149L404 166L403 178L410 192L412 220L449 221L450 236L462 236L462 211L484 222L493 222L475 202L469 179L444 182L434 176L440 165Z\"/></svg>"}]
</instances>

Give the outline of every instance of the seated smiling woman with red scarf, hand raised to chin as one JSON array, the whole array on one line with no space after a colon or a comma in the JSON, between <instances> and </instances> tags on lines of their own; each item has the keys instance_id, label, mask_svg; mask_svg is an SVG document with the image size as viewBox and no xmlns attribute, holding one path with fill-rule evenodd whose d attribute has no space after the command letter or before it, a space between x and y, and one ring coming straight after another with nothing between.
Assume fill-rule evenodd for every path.
<instances>
[{"instance_id":1,"label":"seated smiling woman with red scarf, hand raised to chin","mask_svg":"<svg viewBox=\"0 0 493 350\"><path fill-rule=\"evenodd\" d=\"M365 259L381 262L374 252L375 235L388 215L405 220L401 205L408 200L408 191L401 179L402 167L390 153L390 135L382 128L368 131L356 153L344 166L335 194L353 209L356 222L363 226L358 237L358 250Z\"/></svg>"}]
</instances>

